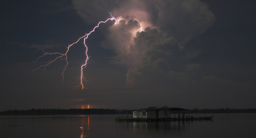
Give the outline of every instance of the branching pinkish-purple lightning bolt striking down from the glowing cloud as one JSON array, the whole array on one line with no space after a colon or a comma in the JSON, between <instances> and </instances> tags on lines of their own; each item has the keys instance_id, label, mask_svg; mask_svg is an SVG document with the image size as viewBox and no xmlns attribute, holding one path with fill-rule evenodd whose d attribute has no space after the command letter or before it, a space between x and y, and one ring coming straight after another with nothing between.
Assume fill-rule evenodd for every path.
<instances>
[{"instance_id":1,"label":"branching pinkish-purple lightning bolt striking down from the glowing cloud","mask_svg":"<svg viewBox=\"0 0 256 138\"><path fill-rule=\"evenodd\" d=\"M81 65L80 84L79 84L78 86L76 86L76 87L81 86L81 89L85 89L85 86L84 86L84 84L83 84L83 79L85 79L85 78L84 78L84 74L83 74L83 69L86 67L87 62L88 62L88 59L89 59L89 56L88 56L88 47L87 47L87 45L86 45L86 39L89 37L89 35L90 35L91 33L93 33L93 32L95 31L96 28L98 28L98 27L100 26L101 23L107 23L107 21L109 21L109 20L111 20L111 21L112 21L112 20L115 20L115 24L117 24L117 19L112 16L112 13L109 13L109 14L111 15L111 18L107 18L105 21L100 21L99 23L97 23L97 26L95 26L89 33L86 33L85 35L83 35L83 36L81 36L80 38L78 38L78 39L76 40L76 42L69 44L68 47L66 48L65 54L61 54L61 53L59 53L59 52L55 52L55 53L45 52L43 49L41 49L41 50L44 52L44 54L42 54L41 56L39 56L39 58L38 58L37 60L35 60L34 62L39 61L39 59L41 59L41 58L43 58L44 56L47 56L47 55L58 55L58 56L57 56L55 59L50 60L47 64L44 64L44 65L39 66L38 69L41 69L41 68L44 68L44 69L45 69L48 65L54 63L57 59L65 59L65 63L66 63L66 64L65 64L64 69L63 69L63 71L62 71L62 81L63 81L63 80L64 80L64 73L65 73L65 70L66 70L66 68L67 68L67 66L68 66L68 64L69 64L69 63L68 63L67 54L68 54L68 52L70 51L71 47L72 47L74 44L78 43L78 42L81 40L81 38L83 38L83 43L84 43L84 46L85 46L85 48L86 48L86 61L85 61L85 64L82 64L82 65ZM38 70L38 69L35 69L35 70Z\"/></svg>"}]
</instances>

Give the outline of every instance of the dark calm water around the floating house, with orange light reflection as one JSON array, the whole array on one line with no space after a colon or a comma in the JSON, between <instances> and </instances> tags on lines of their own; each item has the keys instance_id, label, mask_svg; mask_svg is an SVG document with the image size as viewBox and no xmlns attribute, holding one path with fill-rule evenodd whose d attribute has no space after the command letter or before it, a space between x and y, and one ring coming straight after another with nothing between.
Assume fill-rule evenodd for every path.
<instances>
[{"instance_id":1,"label":"dark calm water around the floating house, with orange light reflection","mask_svg":"<svg viewBox=\"0 0 256 138\"><path fill-rule=\"evenodd\" d=\"M148 123L115 122L115 115L0 116L0 138L256 137L256 114L211 115L213 120Z\"/></svg>"}]
</instances>

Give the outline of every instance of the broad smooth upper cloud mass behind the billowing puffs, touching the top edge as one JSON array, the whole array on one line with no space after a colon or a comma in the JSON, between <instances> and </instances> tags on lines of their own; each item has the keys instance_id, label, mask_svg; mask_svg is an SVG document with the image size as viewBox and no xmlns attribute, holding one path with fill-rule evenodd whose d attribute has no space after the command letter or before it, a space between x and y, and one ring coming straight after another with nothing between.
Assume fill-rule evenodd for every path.
<instances>
[{"instance_id":1,"label":"broad smooth upper cloud mass behind the billowing puffs, touching the top edge","mask_svg":"<svg viewBox=\"0 0 256 138\"><path fill-rule=\"evenodd\" d=\"M212 27L215 16L200 0L73 0L74 8L86 23L113 16L133 17L143 28L154 27L185 44L191 37Z\"/></svg>"}]
</instances>

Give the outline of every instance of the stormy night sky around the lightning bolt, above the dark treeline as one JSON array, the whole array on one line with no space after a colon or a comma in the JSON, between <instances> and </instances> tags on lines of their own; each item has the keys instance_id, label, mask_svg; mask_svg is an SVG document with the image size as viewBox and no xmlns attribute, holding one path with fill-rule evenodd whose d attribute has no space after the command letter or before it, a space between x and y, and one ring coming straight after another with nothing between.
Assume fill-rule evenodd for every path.
<instances>
[{"instance_id":1,"label":"stormy night sky around the lightning bolt, above the dark treeline","mask_svg":"<svg viewBox=\"0 0 256 138\"><path fill-rule=\"evenodd\" d=\"M256 2L12 0L0 22L0 110L256 108ZM65 53L45 69L40 65ZM141 30L142 29L142 30ZM38 69L38 70L35 70ZM75 89L76 88L76 89Z\"/></svg>"}]
</instances>

